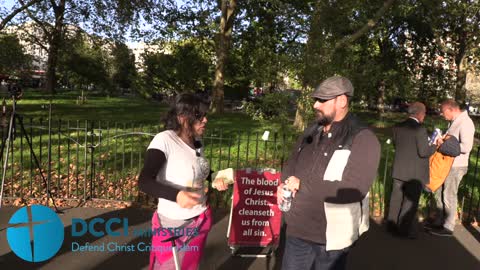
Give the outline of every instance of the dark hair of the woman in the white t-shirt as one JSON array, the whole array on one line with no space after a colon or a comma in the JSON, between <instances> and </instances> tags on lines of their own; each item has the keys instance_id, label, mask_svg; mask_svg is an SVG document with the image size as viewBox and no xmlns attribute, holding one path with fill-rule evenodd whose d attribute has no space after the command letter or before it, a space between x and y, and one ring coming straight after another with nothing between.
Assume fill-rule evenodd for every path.
<instances>
[{"instance_id":1,"label":"dark hair of the woman in the white t-shirt","mask_svg":"<svg viewBox=\"0 0 480 270\"><path fill-rule=\"evenodd\" d=\"M175 104L170 108L164 119L165 129L180 131L182 125L178 122L178 116L183 115L187 118L188 133L193 130L195 121L201 121L207 115L208 104L199 96L194 94L178 95Z\"/></svg>"}]
</instances>

